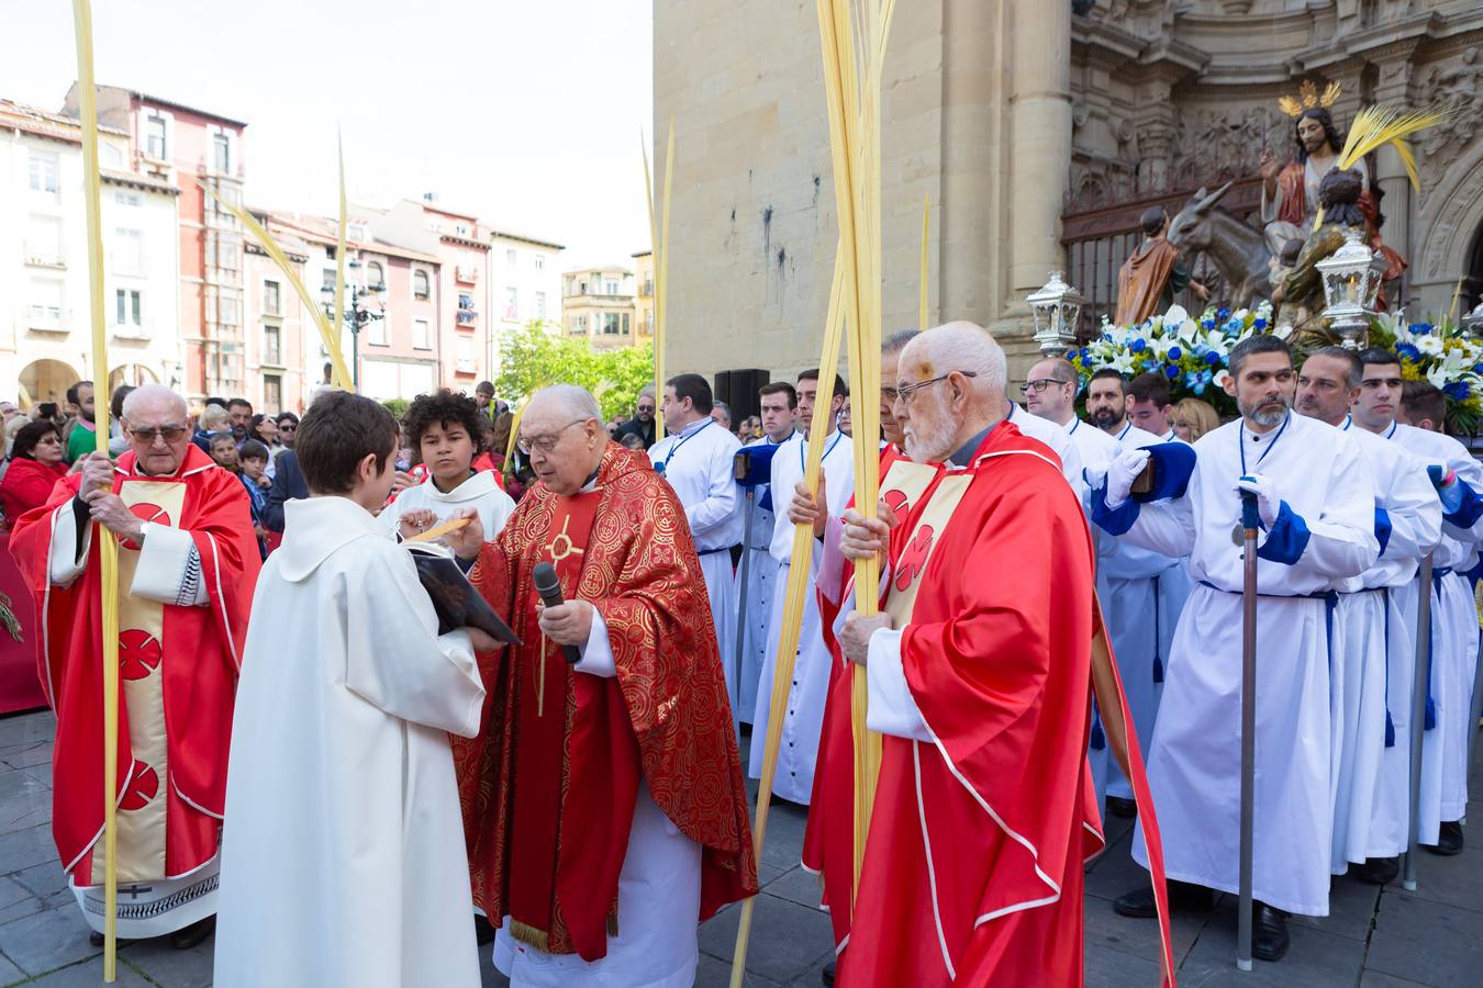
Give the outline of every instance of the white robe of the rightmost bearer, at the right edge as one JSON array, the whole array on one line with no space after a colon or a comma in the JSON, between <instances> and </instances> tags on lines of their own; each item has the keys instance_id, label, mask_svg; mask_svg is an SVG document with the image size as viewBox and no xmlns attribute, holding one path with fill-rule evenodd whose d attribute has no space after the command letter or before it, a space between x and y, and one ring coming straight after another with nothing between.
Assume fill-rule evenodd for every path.
<instances>
[{"instance_id":1,"label":"white robe of the rightmost bearer, at the right edge","mask_svg":"<svg viewBox=\"0 0 1483 988\"><path fill-rule=\"evenodd\" d=\"M1424 464L1450 467L1464 483L1483 493L1483 467L1450 435L1400 422L1393 422L1381 435L1400 443ZM1480 538L1483 520L1471 530L1443 523L1443 538L1433 555L1428 695L1436 710L1436 729L1425 732L1422 744L1419 840L1424 844L1434 844L1439 825L1461 819L1467 810L1468 735L1477 729L1468 721L1479 656L1479 615L1473 585L1464 573L1477 564Z\"/></svg>"}]
</instances>

